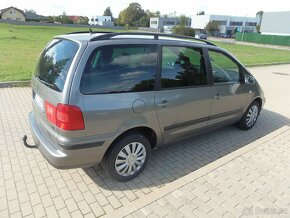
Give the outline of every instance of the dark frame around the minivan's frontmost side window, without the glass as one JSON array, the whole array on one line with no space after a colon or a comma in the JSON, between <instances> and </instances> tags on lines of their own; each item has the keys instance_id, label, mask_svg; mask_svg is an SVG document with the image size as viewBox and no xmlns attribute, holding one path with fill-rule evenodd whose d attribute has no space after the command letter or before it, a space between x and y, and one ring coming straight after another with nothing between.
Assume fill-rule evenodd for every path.
<instances>
[{"instance_id":1,"label":"dark frame around the minivan's frontmost side window, without the glass","mask_svg":"<svg viewBox=\"0 0 290 218\"><path fill-rule=\"evenodd\" d=\"M230 54L228 54L227 52L224 52L222 50L218 50L218 49L212 49L212 48L208 48L206 49L207 51L207 56L208 56L208 67L209 67L209 76L211 78L211 85L212 86L224 86L224 85L234 85L234 84L243 84L242 83L242 79L243 79L243 71L245 71L244 67L242 67L242 65L234 58L232 57ZM213 51L216 53L220 53L224 56L226 56L227 58L229 58L231 61L233 61L239 68L239 74L240 74L240 82L223 82L223 83L219 83L219 84L215 84L214 83L214 79L213 79L213 72L212 72L212 65L211 65L211 61L210 61L210 55L209 55L209 51Z\"/></svg>"}]
</instances>

